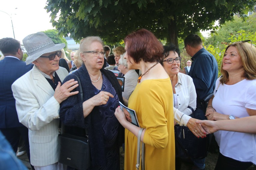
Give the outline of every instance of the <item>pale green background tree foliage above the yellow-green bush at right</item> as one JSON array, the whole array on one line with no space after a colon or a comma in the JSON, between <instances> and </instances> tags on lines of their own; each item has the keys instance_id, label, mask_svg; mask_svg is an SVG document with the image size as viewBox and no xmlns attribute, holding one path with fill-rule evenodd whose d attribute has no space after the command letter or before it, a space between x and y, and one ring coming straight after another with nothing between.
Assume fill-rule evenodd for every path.
<instances>
[{"instance_id":1,"label":"pale green background tree foliage above the yellow-green bush at right","mask_svg":"<svg viewBox=\"0 0 256 170\"><path fill-rule=\"evenodd\" d=\"M206 39L206 45L213 45L221 49L224 43L230 43L230 35L236 35L238 31L245 30L247 33L256 32L256 13L250 15L245 21L238 16L234 16L233 21L225 22L215 33Z\"/></svg>"}]
</instances>

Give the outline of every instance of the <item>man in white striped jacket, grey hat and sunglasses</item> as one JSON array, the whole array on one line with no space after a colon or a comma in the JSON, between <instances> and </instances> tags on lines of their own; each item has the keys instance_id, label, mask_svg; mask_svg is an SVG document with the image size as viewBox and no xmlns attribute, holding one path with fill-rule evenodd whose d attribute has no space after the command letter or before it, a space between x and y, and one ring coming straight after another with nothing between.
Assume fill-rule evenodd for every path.
<instances>
[{"instance_id":1,"label":"man in white striped jacket, grey hat and sunglasses","mask_svg":"<svg viewBox=\"0 0 256 170\"><path fill-rule=\"evenodd\" d=\"M28 52L26 64L31 71L12 85L19 121L29 128L31 164L36 170L62 170L58 163L59 104L78 86L74 79L61 85L69 74L59 67L59 56L65 44L54 44L44 33L30 34L23 39Z\"/></svg>"}]
</instances>

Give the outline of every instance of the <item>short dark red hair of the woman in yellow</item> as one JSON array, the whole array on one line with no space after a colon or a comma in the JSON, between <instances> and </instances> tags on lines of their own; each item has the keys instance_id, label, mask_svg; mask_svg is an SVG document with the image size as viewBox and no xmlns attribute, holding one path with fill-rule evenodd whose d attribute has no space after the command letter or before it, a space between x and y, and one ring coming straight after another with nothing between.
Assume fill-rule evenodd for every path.
<instances>
[{"instance_id":1,"label":"short dark red hair of the woman in yellow","mask_svg":"<svg viewBox=\"0 0 256 170\"><path fill-rule=\"evenodd\" d=\"M141 29L125 37L126 53L134 62L160 62L163 58L163 45L149 30Z\"/></svg>"}]
</instances>

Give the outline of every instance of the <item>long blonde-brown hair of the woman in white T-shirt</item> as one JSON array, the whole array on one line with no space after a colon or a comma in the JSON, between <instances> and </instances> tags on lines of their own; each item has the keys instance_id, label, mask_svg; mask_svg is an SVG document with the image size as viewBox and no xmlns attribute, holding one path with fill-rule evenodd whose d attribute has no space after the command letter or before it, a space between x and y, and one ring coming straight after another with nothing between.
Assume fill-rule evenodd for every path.
<instances>
[{"instance_id":1,"label":"long blonde-brown hair of the woman in white T-shirt","mask_svg":"<svg viewBox=\"0 0 256 170\"><path fill-rule=\"evenodd\" d=\"M241 57L244 68L244 74L242 77L247 80L256 79L256 48L248 42L234 42L227 46L225 53L229 47L235 47ZM229 75L226 70L223 70L223 60L221 62L221 74L221 84L227 83L229 81Z\"/></svg>"}]
</instances>

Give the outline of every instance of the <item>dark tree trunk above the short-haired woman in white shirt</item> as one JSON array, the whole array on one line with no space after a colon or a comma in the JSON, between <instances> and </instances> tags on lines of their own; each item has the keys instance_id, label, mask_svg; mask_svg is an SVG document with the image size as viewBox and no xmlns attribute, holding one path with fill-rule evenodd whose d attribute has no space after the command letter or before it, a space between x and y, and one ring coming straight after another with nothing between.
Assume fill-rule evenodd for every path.
<instances>
[{"instance_id":1,"label":"dark tree trunk above the short-haired woman in white shirt","mask_svg":"<svg viewBox=\"0 0 256 170\"><path fill-rule=\"evenodd\" d=\"M168 37L167 42L174 44L176 47L179 47L178 45L178 34L176 29L176 20L171 20L168 24Z\"/></svg>"}]
</instances>

